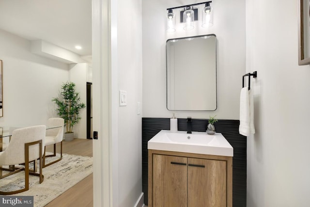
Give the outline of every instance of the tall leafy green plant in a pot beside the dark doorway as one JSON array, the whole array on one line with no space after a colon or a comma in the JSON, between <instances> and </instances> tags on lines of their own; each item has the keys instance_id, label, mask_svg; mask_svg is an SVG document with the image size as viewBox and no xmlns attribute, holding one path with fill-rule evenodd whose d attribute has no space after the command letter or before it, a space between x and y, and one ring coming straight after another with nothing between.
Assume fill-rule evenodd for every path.
<instances>
[{"instance_id":1,"label":"tall leafy green plant in a pot beside the dark doorway","mask_svg":"<svg viewBox=\"0 0 310 207\"><path fill-rule=\"evenodd\" d=\"M57 114L64 119L64 126L66 127L66 132L64 133L65 141L73 140L73 126L78 124L78 121L81 119L78 116L80 110L86 107L84 103L80 103L80 96L76 92L75 87L76 84L74 82L63 83L61 99L52 99L58 107L56 110L58 111Z\"/></svg>"}]
</instances>

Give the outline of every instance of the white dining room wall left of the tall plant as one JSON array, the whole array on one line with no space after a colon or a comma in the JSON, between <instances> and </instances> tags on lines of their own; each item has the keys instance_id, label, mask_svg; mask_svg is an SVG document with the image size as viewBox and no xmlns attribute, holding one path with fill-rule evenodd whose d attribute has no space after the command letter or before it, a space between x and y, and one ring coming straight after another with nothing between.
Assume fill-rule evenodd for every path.
<instances>
[{"instance_id":1,"label":"white dining room wall left of the tall plant","mask_svg":"<svg viewBox=\"0 0 310 207\"><path fill-rule=\"evenodd\" d=\"M1 126L46 124L55 117L52 97L68 80L68 64L30 52L30 41L0 30L3 61L3 117Z\"/></svg>"}]
</instances>

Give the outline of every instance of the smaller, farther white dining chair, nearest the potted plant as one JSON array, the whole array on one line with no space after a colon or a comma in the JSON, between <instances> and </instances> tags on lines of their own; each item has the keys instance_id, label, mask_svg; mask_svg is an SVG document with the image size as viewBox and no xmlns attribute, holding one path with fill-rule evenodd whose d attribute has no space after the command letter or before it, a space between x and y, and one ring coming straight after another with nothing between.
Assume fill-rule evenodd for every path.
<instances>
[{"instance_id":1,"label":"smaller, farther white dining chair, nearest the potted plant","mask_svg":"<svg viewBox=\"0 0 310 207\"><path fill-rule=\"evenodd\" d=\"M43 155L43 168L62 160L63 125L64 125L63 118L50 118L47 120L48 127L54 126L57 128L47 129L45 137L44 155ZM60 143L60 158L46 164L47 157L56 157L56 143ZM52 155L46 155L46 146L51 144L54 145L54 152Z\"/></svg>"}]
</instances>

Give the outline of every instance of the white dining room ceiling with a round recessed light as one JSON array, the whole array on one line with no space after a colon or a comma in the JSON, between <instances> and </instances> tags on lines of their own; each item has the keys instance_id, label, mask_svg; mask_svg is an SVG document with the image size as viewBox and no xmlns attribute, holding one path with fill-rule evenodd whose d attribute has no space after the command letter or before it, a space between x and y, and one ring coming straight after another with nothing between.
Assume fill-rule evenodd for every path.
<instances>
[{"instance_id":1,"label":"white dining room ceiling with a round recessed light","mask_svg":"<svg viewBox=\"0 0 310 207\"><path fill-rule=\"evenodd\" d=\"M0 29L92 55L92 0L0 0Z\"/></svg>"}]
</instances>

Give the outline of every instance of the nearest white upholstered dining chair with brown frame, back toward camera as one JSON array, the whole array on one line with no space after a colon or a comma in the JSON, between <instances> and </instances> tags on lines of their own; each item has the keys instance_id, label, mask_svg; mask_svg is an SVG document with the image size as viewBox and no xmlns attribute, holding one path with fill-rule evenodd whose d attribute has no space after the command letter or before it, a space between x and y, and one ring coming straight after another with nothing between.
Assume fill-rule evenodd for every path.
<instances>
[{"instance_id":1,"label":"nearest white upholstered dining chair with brown frame, back toward camera","mask_svg":"<svg viewBox=\"0 0 310 207\"><path fill-rule=\"evenodd\" d=\"M40 183L44 180L42 175L43 153L45 144L46 126L33 126L15 129L12 133L11 141L7 148L0 152L0 178L4 178L22 170L25 171L25 187L16 191L0 191L1 195L11 195L29 190L29 175L37 175L40 177ZM40 160L39 173L29 170L29 162ZM25 167L16 167L15 165L24 163ZM2 166L14 166L14 171L2 175ZM12 170L12 169L11 169Z\"/></svg>"}]
</instances>

